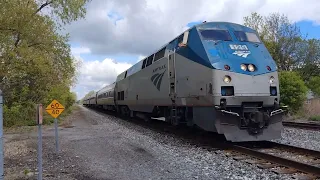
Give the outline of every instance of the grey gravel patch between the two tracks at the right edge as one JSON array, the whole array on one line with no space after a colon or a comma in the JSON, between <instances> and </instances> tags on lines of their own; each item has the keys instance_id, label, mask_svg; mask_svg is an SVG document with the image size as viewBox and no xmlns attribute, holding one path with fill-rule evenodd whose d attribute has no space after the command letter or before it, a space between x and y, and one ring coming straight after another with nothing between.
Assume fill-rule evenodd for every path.
<instances>
[{"instance_id":1,"label":"grey gravel patch between the two tracks at the right edge","mask_svg":"<svg viewBox=\"0 0 320 180\"><path fill-rule=\"evenodd\" d=\"M320 131L285 127L282 138L272 141L320 151Z\"/></svg>"}]
</instances>

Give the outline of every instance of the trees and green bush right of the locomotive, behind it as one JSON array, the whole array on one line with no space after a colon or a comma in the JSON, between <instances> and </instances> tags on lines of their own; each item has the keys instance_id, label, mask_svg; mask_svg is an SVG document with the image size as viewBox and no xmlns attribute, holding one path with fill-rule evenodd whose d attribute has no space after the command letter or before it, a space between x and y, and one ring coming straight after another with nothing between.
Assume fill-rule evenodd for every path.
<instances>
[{"instance_id":1,"label":"trees and green bush right of the locomotive, behind it","mask_svg":"<svg viewBox=\"0 0 320 180\"><path fill-rule=\"evenodd\" d=\"M244 25L255 29L276 61L280 79L280 102L292 113L301 109L310 90L320 96L320 40L303 35L287 16L254 12Z\"/></svg>"}]
</instances>

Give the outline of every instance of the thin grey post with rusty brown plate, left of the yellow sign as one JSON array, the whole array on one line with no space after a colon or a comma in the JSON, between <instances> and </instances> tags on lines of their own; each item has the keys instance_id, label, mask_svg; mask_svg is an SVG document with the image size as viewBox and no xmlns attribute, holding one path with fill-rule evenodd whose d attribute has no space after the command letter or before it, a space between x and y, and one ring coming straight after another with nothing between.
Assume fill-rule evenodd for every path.
<instances>
[{"instance_id":1,"label":"thin grey post with rusty brown plate, left of the yellow sign","mask_svg":"<svg viewBox=\"0 0 320 180\"><path fill-rule=\"evenodd\" d=\"M38 124L38 180L42 180L42 104L37 105L36 119Z\"/></svg>"}]
</instances>

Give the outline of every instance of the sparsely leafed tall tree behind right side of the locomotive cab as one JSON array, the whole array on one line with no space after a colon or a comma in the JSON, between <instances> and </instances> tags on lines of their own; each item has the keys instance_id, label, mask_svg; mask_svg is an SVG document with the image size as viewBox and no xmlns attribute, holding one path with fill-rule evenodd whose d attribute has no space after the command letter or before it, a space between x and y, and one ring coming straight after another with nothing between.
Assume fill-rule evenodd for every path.
<instances>
[{"instance_id":1,"label":"sparsely leafed tall tree behind right side of the locomotive cab","mask_svg":"<svg viewBox=\"0 0 320 180\"><path fill-rule=\"evenodd\" d=\"M255 29L266 44L279 70L292 70L301 61L297 52L303 42L300 28L278 13L262 17L257 13L244 17L244 25Z\"/></svg>"}]
</instances>

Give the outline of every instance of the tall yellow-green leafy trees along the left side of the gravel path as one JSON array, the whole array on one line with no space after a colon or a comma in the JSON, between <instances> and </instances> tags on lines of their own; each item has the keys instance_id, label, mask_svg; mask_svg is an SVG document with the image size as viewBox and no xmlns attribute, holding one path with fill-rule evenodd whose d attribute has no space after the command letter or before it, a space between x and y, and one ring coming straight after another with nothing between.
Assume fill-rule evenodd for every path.
<instances>
[{"instance_id":1,"label":"tall yellow-green leafy trees along the left side of the gravel path","mask_svg":"<svg viewBox=\"0 0 320 180\"><path fill-rule=\"evenodd\" d=\"M57 99L67 109L78 64L68 35L59 31L84 18L88 0L0 1L0 89L4 126L34 125L35 104Z\"/></svg>"}]
</instances>

